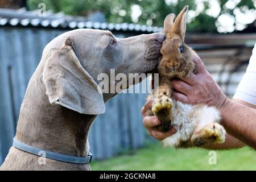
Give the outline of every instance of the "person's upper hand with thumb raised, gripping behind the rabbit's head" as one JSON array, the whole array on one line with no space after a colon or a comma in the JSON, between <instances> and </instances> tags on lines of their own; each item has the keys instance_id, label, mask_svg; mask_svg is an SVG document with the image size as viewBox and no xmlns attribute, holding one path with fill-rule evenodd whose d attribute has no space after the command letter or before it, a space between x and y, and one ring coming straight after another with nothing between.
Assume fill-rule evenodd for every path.
<instances>
[{"instance_id":1,"label":"person's upper hand with thumb raised, gripping behind the rabbit's head","mask_svg":"<svg viewBox=\"0 0 256 182\"><path fill-rule=\"evenodd\" d=\"M226 101L226 96L220 86L213 80L210 73L205 69L200 57L195 54L197 73L191 73L183 80L174 79L172 84L174 92L172 96L186 104L206 104L221 109Z\"/></svg>"}]
</instances>

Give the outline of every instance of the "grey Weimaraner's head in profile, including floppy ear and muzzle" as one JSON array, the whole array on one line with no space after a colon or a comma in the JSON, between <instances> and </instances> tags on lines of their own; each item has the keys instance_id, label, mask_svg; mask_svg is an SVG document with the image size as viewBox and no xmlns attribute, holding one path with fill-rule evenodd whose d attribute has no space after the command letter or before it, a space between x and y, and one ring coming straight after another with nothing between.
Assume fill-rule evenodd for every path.
<instances>
[{"instance_id":1,"label":"grey Weimaraner's head in profile, including floppy ear and muzzle","mask_svg":"<svg viewBox=\"0 0 256 182\"><path fill-rule=\"evenodd\" d=\"M110 76L110 69L125 75L151 71L158 64L164 38L155 33L118 39L109 31L90 29L58 36L43 53L49 101L82 114L104 113L105 93L99 89L98 75Z\"/></svg>"}]
</instances>

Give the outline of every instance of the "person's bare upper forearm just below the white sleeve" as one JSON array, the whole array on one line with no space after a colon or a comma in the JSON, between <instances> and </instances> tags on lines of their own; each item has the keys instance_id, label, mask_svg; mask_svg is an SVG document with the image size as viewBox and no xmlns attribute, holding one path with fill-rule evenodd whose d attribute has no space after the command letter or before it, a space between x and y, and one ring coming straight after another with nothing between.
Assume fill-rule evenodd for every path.
<instances>
[{"instance_id":1,"label":"person's bare upper forearm just below the white sleeve","mask_svg":"<svg viewBox=\"0 0 256 182\"><path fill-rule=\"evenodd\" d=\"M256 110L227 99L221 107L227 132L256 149Z\"/></svg>"}]
</instances>

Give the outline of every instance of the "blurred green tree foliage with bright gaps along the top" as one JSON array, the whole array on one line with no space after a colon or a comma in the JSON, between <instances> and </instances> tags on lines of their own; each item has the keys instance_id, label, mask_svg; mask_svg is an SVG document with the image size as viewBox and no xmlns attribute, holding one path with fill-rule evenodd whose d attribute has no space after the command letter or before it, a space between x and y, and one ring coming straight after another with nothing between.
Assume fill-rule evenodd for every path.
<instances>
[{"instance_id":1,"label":"blurred green tree foliage with bright gaps along the top","mask_svg":"<svg viewBox=\"0 0 256 182\"><path fill-rule=\"evenodd\" d=\"M208 13L213 1L217 2L220 7L220 10L216 9L216 15ZM236 6L227 7L228 1L236 3ZM27 5L34 10L42 2L46 3L47 9L52 9L55 12L64 11L65 14L70 15L86 15L94 10L101 10L108 22L141 23L152 26L163 26L166 15L178 14L185 5L189 5L188 30L196 32L217 31L216 20L221 14L235 17L234 11L237 9L242 13L246 13L250 9L255 10L254 0L28 0ZM201 10L199 10L200 7Z\"/></svg>"}]
</instances>

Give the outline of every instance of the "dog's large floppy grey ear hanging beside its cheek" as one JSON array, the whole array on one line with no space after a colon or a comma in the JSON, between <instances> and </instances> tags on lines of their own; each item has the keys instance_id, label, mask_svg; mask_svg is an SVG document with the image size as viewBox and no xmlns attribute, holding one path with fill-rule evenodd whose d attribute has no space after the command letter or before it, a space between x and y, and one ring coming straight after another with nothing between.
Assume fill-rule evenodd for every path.
<instances>
[{"instance_id":1,"label":"dog's large floppy grey ear hanging beside its cheek","mask_svg":"<svg viewBox=\"0 0 256 182\"><path fill-rule=\"evenodd\" d=\"M101 89L77 59L71 38L47 59L43 81L51 104L60 104L81 114L105 112Z\"/></svg>"}]
</instances>

